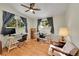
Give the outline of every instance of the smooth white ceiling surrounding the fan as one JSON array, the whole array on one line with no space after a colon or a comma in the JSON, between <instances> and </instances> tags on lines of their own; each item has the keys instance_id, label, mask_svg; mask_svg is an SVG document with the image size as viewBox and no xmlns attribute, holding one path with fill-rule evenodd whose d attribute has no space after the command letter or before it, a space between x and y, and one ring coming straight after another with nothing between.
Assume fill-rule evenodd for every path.
<instances>
[{"instance_id":1,"label":"smooth white ceiling surrounding the fan","mask_svg":"<svg viewBox=\"0 0 79 59\"><path fill-rule=\"evenodd\" d=\"M25 3L24 5L29 6L28 3ZM56 15L62 15L66 12L68 4L66 3L36 3L36 7L40 8L40 11L35 11L35 14L32 12L25 12L27 8L22 7L20 3L14 3L10 4L12 8L17 10L18 12L32 17L32 18L45 18L45 17L51 17Z\"/></svg>"}]
</instances>

